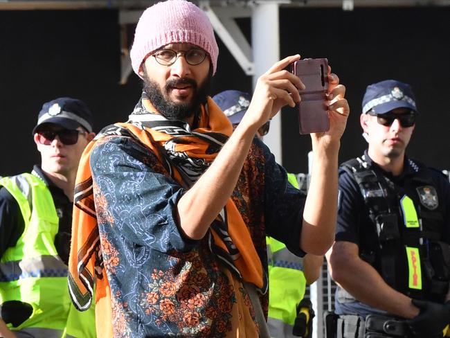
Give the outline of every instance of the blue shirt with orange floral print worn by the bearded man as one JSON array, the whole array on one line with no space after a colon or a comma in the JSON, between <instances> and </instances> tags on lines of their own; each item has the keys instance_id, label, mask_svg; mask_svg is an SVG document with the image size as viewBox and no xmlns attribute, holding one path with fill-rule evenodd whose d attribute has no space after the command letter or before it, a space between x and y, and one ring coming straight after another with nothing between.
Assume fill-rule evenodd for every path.
<instances>
[{"instance_id":1,"label":"blue shirt with orange floral print worn by the bearded man","mask_svg":"<svg viewBox=\"0 0 450 338\"><path fill-rule=\"evenodd\" d=\"M185 192L147 148L106 136L91 153L93 193L117 337L235 337L255 318L248 294L206 240L181 234L176 206ZM298 256L305 195L255 139L233 201L267 270L265 236ZM267 315L268 295L260 296ZM236 310L237 309L237 310Z\"/></svg>"}]
</instances>

